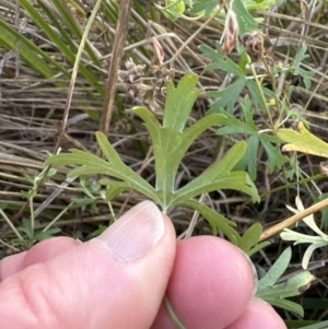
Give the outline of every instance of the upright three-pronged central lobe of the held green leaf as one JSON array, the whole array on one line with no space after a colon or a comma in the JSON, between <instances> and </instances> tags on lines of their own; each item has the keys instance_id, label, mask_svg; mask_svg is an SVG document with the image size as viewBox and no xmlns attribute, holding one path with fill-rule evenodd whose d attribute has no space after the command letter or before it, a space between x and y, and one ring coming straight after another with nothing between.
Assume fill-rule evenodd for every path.
<instances>
[{"instance_id":1,"label":"upright three-pronged central lobe of the held green leaf","mask_svg":"<svg viewBox=\"0 0 328 329\"><path fill-rule=\"evenodd\" d=\"M133 111L145 122L152 140L156 171L155 189L159 198L163 200L164 209L172 204L175 198L176 173L188 148L201 132L224 118L222 115L213 114L184 130L192 105L200 93L199 90L195 90L196 84L197 75L192 73L187 73L176 89L172 82L167 82L163 126L148 108L133 108Z\"/></svg>"}]
</instances>

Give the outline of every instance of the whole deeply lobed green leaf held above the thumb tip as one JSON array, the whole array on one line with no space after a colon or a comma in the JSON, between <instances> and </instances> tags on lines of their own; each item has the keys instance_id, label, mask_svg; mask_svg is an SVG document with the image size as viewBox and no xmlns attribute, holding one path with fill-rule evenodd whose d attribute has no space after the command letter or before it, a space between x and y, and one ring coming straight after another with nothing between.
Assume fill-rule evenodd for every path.
<instances>
[{"instance_id":1,"label":"whole deeply lobed green leaf held above the thumb tip","mask_svg":"<svg viewBox=\"0 0 328 329\"><path fill-rule=\"evenodd\" d=\"M133 108L134 114L144 121L152 140L156 172L155 188L120 160L102 132L96 132L96 139L107 161L83 151L71 150L71 153L51 156L46 164L80 165L71 169L68 174L69 176L90 174L109 176L101 180L102 184L108 186L106 191L107 199L114 198L125 189L132 188L161 204L164 212L172 205L192 205L208 219L213 232L215 232L216 227L221 228L223 225L224 218L203 205L199 205L197 201L192 200L195 197L216 189L243 191L251 196L254 201L259 200L259 196L247 173L233 172L234 166L245 153L245 142L236 143L222 160L214 163L179 190L175 190L177 169L188 148L206 129L225 118L221 114L211 114L185 129L192 105L200 93L199 90L195 89L196 84L197 75L194 73L187 73L177 87L172 82L167 82L163 125L159 122L154 114L148 108ZM224 227L222 231L232 240L238 243L238 238L233 231Z\"/></svg>"}]
</instances>

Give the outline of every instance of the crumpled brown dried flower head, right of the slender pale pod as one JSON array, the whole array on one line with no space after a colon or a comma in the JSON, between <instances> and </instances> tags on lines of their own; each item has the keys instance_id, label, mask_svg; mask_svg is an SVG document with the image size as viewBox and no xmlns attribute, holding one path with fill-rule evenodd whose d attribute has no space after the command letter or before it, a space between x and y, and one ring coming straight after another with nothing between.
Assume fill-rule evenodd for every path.
<instances>
[{"instance_id":1,"label":"crumpled brown dried flower head, right of the slender pale pod","mask_svg":"<svg viewBox=\"0 0 328 329\"><path fill-rule=\"evenodd\" d=\"M251 61L258 61L265 54L266 34L260 32L245 33L242 36L242 44Z\"/></svg>"}]
</instances>

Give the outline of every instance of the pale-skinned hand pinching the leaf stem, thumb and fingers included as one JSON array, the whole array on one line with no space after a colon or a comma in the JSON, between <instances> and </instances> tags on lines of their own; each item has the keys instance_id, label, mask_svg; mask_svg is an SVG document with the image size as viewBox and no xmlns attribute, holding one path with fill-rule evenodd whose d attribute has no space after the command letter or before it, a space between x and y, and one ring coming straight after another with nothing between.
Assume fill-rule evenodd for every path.
<instances>
[{"instance_id":1,"label":"pale-skinned hand pinching the leaf stem, thumb and fingers included","mask_svg":"<svg viewBox=\"0 0 328 329\"><path fill-rule=\"evenodd\" d=\"M42 242L0 261L0 328L174 329L168 298L187 329L285 329L254 298L244 254L212 237L176 240L150 201L98 238Z\"/></svg>"}]
</instances>

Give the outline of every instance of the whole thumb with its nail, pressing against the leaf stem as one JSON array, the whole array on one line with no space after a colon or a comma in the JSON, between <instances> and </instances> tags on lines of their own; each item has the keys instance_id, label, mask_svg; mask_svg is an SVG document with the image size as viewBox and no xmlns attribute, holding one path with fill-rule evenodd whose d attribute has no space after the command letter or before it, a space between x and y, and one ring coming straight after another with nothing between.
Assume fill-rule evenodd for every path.
<instances>
[{"instance_id":1,"label":"whole thumb with its nail, pressing against the leaf stem","mask_svg":"<svg viewBox=\"0 0 328 329\"><path fill-rule=\"evenodd\" d=\"M144 201L99 237L1 282L0 328L150 328L175 244L168 218Z\"/></svg>"}]
</instances>

